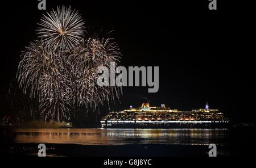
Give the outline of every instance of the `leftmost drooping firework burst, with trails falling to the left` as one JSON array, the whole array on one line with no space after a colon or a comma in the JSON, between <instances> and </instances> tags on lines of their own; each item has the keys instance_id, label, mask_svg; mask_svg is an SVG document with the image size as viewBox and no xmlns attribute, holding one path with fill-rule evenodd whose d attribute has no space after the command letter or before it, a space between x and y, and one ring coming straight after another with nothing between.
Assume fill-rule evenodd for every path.
<instances>
[{"instance_id":1,"label":"leftmost drooping firework burst, with trails falling to the left","mask_svg":"<svg viewBox=\"0 0 256 168\"><path fill-rule=\"evenodd\" d=\"M30 90L30 96L35 97L38 94L41 74L56 70L52 61L54 53L46 47L43 41L36 40L26 47L26 51L20 57L17 73L19 87L22 88L24 94Z\"/></svg>"}]
</instances>

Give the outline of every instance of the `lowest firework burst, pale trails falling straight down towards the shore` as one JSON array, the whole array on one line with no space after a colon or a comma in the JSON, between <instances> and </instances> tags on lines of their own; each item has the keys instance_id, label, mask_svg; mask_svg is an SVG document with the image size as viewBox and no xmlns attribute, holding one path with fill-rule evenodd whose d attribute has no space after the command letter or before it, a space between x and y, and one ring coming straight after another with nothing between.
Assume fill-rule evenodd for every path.
<instances>
[{"instance_id":1,"label":"lowest firework burst, pale trails falling straight down towards the shore","mask_svg":"<svg viewBox=\"0 0 256 168\"><path fill-rule=\"evenodd\" d=\"M39 80L40 109L44 119L67 119L71 107L71 80L65 70L63 52L53 58L55 68L42 74Z\"/></svg>"}]
</instances>

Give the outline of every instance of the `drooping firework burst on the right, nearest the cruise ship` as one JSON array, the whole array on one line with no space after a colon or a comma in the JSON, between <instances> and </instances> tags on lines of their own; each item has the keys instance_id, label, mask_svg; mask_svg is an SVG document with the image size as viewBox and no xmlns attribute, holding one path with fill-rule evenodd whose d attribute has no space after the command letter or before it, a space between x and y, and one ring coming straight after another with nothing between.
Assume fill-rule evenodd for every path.
<instances>
[{"instance_id":1,"label":"drooping firework burst on the right, nearest the cruise ship","mask_svg":"<svg viewBox=\"0 0 256 168\"><path fill-rule=\"evenodd\" d=\"M76 78L73 88L73 103L78 106L86 105L96 108L104 101L114 101L114 96L119 98L121 87L100 87L97 85L99 66L110 66L110 62L119 62L121 53L117 43L112 39L81 40L69 56L69 65Z\"/></svg>"}]
</instances>

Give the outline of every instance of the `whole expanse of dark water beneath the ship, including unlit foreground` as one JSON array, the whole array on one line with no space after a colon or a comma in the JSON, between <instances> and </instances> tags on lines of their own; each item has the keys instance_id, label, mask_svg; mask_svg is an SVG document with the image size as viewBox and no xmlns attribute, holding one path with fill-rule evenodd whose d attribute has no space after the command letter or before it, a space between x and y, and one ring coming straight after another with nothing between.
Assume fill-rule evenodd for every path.
<instances>
[{"instance_id":1,"label":"whole expanse of dark water beneath the ship, including unlit foreground","mask_svg":"<svg viewBox=\"0 0 256 168\"><path fill-rule=\"evenodd\" d=\"M37 156L203 156L217 145L218 156L252 156L254 128L230 129L11 129L1 149ZM11 134L10 134L11 133Z\"/></svg>"}]
</instances>

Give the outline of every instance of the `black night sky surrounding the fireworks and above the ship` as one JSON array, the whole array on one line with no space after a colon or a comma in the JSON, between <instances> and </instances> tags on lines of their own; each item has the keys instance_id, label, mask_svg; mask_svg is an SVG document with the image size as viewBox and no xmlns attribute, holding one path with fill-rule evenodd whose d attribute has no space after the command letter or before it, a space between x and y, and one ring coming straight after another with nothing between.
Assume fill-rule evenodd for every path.
<instances>
[{"instance_id":1,"label":"black night sky surrounding the fireworks and above the ship","mask_svg":"<svg viewBox=\"0 0 256 168\"><path fill-rule=\"evenodd\" d=\"M255 47L253 15L242 4L223 4L217 11L209 1L47 1L47 10L71 5L79 10L88 25L114 30L112 36L123 54L123 66L159 66L159 91L147 87L124 87L121 103L112 110L152 106L180 110L220 108L235 122L253 121L255 112ZM9 1L1 11L1 106L9 113L6 101L10 82L15 79L19 55L34 41L42 14L38 1ZM103 110L106 114L108 111Z\"/></svg>"}]
</instances>

